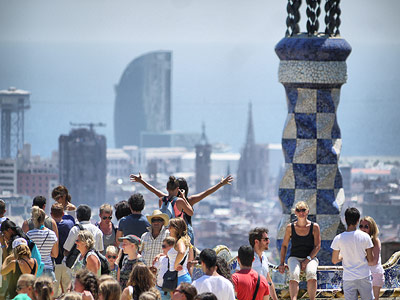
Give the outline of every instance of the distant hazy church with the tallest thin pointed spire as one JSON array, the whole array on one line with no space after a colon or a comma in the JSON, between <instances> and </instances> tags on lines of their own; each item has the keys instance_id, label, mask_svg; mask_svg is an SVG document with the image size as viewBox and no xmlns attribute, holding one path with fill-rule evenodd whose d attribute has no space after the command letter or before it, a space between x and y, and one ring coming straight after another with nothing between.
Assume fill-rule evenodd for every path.
<instances>
[{"instance_id":1,"label":"distant hazy church with the tallest thin pointed spire","mask_svg":"<svg viewBox=\"0 0 400 300\"><path fill-rule=\"evenodd\" d=\"M237 173L239 196L246 200L264 199L268 192L268 145L255 143L252 107L249 104L249 119L245 145L242 149Z\"/></svg>"}]
</instances>

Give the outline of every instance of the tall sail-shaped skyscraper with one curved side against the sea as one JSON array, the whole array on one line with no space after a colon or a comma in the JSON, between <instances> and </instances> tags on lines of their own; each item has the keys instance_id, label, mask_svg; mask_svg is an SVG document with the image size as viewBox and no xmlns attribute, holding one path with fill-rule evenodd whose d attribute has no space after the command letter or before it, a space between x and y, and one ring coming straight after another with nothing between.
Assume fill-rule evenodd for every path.
<instances>
[{"instance_id":1,"label":"tall sail-shaped skyscraper with one curved side against the sea","mask_svg":"<svg viewBox=\"0 0 400 300\"><path fill-rule=\"evenodd\" d=\"M141 145L142 132L171 129L171 58L156 51L134 59L115 87L114 136L117 148Z\"/></svg>"}]
</instances>

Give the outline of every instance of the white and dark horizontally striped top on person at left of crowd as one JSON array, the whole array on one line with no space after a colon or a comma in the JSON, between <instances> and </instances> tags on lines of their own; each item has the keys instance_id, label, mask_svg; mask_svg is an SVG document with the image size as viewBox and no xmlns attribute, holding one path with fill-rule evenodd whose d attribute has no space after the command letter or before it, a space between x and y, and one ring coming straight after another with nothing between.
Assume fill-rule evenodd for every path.
<instances>
[{"instance_id":1,"label":"white and dark horizontally striped top on person at left of crowd","mask_svg":"<svg viewBox=\"0 0 400 300\"><path fill-rule=\"evenodd\" d=\"M38 247L40 255L42 256L42 262L44 262L44 268L53 270L53 262L51 261L50 254L53 245L57 242L57 236L54 231L48 228L36 228L29 230L26 235L32 241L34 241L36 246Z\"/></svg>"}]
</instances>

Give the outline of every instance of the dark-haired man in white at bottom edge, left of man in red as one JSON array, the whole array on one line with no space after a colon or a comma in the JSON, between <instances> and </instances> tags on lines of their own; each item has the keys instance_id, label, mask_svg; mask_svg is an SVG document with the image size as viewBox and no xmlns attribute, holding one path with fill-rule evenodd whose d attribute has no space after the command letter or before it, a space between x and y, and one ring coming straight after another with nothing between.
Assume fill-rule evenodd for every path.
<instances>
[{"instance_id":1,"label":"dark-haired man in white at bottom edge, left of man in red","mask_svg":"<svg viewBox=\"0 0 400 300\"><path fill-rule=\"evenodd\" d=\"M212 249L204 249L200 253L201 268L204 275L195 280L192 285L197 293L211 292L218 300L234 300L235 290L232 283L217 273L217 254Z\"/></svg>"}]
</instances>

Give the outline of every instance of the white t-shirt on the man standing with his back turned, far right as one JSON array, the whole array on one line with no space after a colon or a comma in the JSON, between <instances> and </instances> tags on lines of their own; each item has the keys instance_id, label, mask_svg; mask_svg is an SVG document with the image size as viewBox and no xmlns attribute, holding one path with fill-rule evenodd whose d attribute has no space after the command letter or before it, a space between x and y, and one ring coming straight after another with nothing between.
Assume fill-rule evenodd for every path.
<instances>
[{"instance_id":1,"label":"white t-shirt on the man standing with his back turned, far right","mask_svg":"<svg viewBox=\"0 0 400 300\"><path fill-rule=\"evenodd\" d=\"M368 234L361 230L343 232L337 235L331 245L343 257L343 280L357 280L371 275L366 249L373 244Z\"/></svg>"}]
</instances>

